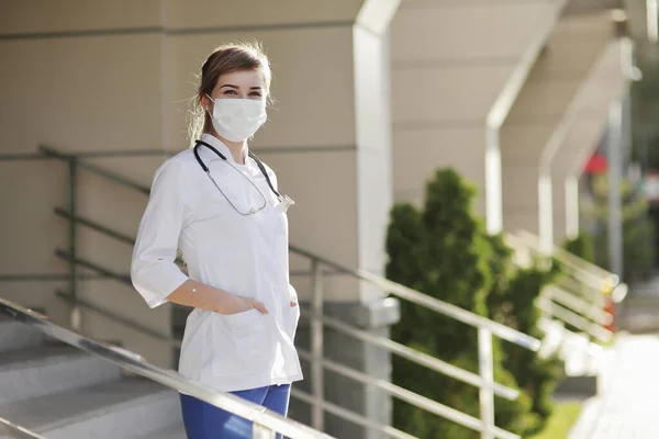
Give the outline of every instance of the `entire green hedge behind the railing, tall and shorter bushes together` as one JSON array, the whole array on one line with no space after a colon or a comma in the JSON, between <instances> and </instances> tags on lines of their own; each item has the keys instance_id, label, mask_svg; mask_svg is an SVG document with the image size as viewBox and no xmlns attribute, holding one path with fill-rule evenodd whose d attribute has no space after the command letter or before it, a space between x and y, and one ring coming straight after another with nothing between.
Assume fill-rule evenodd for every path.
<instances>
[{"instance_id":1,"label":"entire green hedge behind the railing, tall and shorter bushes together","mask_svg":"<svg viewBox=\"0 0 659 439\"><path fill-rule=\"evenodd\" d=\"M422 209L398 204L387 235L387 277L482 316L537 334L533 300L550 275L539 268L518 270L501 237L488 236L471 210L474 190L454 170L438 170L427 183ZM477 330L406 302L393 326L399 342L478 373ZM496 425L518 435L541 428L551 412L548 398L556 382L556 361L494 338L494 375L517 387L516 402L496 398ZM516 381L520 374L522 381ZM393 382L453 408L479 416L478 391L407 360L393 359ZM469 429L394 401L394 426L434 438L479 438Z\"/></svg>"}]
</instances>

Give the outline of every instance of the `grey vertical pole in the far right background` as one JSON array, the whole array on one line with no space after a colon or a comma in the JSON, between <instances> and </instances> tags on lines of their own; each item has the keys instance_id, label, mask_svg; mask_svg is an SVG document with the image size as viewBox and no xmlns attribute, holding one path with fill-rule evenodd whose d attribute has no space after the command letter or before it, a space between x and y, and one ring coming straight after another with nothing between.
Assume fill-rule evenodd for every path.
<instances>
[{"instance_id":1,"label":"grey vertical pole in the far right background","mask_svg":"<svg viewBox=\"0 0 659 439\"><path fill-rule=\"evenodd\" d=\"M611 271L623 274L623 214L621 200L621 180L623 173L621 133L623 105L613 102L608 111L608 258Z\"/></svg>"}]
</instances>

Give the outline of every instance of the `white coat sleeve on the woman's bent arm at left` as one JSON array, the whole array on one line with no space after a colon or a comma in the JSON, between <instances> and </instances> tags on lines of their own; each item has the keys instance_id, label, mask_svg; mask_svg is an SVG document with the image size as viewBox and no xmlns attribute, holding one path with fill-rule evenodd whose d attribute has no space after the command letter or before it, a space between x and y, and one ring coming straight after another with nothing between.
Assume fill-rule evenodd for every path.
<instances>
[{"instance_id":1,"label":"white coat sleeve on the woman's bent arm at left","mask_svg":"<svg viewBox=\"0 0 659 439\"><path fill-rule=\"evenodd\" d=\"M183 165L169 159L155 173L133 248L131 280L150 308L161 305L188 277L176 264L178 241L190 209Z\"/></svg>"}]
</instances>

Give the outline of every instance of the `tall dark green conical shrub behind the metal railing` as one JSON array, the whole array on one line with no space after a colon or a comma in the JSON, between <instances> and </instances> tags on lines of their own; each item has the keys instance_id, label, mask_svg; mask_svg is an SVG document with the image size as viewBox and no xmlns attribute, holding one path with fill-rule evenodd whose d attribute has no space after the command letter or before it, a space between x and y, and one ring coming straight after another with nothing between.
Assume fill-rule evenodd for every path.
<instances>
[{"instance_id":1,"label":"tall dark green conical shrub behind the metal railing","mask_svg":"<svg viewBox=\"0 0 659 439\"><path fill-rule=\"evenodd\" d=\"M445 169L428 182L422 210L396 205L387 235L387 277L487 316L488 294L500 282L493 273L502 274L490 267L493 251L482 225L471 213L473 196L471 187L455 171ZM403 302L401 322L392 327L392 339L478 372L477 330L424 307ZM502 367L504 356L496 338L493 350L495 380L515 387L515 379ZM393 359L392 378L398 385L479 416L478 390L473 386L400 358ZM498 426L516 434L527 431L537 424L530 405L524 394L516 402L496 398ZM400 401L394 401L394 426L424 439L480 437Z\"/></svg>"}]
</instances>

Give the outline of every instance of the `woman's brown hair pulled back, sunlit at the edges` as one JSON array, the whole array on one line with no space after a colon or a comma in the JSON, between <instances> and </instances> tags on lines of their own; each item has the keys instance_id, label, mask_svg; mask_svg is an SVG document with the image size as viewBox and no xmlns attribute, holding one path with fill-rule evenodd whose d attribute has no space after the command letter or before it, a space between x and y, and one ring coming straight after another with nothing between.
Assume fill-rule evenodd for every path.
<instances>
[{"instance_id":1,"label":"woman's brown hair pulled back, sunlit at the edges","mask_svg":"<svg viewBox=\"0 0 659 439\"><path fill-rule=\"evenodd\" d=\"M270 63L261 45L257 42L228 43L216 47L201 66L197 95L192 98L191 121L188 127L190 140L194 142L203 133L210 133L212 127L211 115L201 105L204 95L217 85L221 75L233 71L257 70L264 75L265 95L270 95L272 74Z\"/></svg>"}]
</instances>

